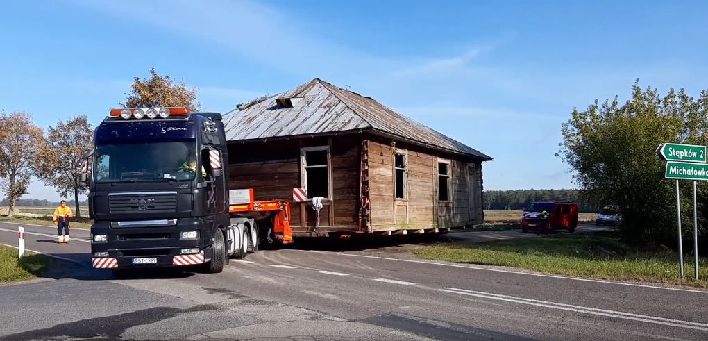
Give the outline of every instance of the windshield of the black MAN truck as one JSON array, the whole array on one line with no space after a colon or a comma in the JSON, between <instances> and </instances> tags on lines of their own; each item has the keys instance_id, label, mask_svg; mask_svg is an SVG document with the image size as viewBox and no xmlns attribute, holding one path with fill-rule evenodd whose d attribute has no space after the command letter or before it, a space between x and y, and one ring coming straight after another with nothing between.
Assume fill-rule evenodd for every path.
<instances>
[{"instance_id":1,"label":"windshield of the black MAN truck","mask_svg":"<svg viewBox=\"0 0 708 341\"><path fill-rule=\"evenodd\" d=\"M195 142L96 145L96 182L191 180L196 174Z\"/></svg>"}]
</instances>

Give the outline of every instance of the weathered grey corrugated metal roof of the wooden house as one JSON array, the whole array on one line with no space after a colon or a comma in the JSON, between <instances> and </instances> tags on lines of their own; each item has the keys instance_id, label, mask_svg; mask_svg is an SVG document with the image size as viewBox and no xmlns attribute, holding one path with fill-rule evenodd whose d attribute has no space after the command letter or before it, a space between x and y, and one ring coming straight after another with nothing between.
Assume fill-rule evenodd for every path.
<instances>
[{"instance_id":1,"label":"weathered grey corrugated metal roof of the wooden house","mask_svg":"<svg viewBox=\"0 0 708 341\"><path fill-rule=\"evenodd\" d=\"M283 108L276 99L292 99ZM376 130L433 149L491 160L462 142L448 138L369 97L313 79L295 89L264 99L224 117L228 141Z\"/></svg>"}]
</instances>

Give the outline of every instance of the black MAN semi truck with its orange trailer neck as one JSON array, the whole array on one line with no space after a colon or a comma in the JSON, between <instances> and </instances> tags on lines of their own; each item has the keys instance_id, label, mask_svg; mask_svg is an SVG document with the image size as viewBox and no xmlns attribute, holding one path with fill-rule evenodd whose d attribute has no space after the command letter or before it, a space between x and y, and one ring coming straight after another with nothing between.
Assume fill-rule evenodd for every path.
<instances>
[{"instance_id":1,"label":"black MAN semi truck with its orange trailer neck","mask_svg":"<svg viewBox=\"0 0 708 341\"><path fill-rule=\"evenodd\" d=\"M222 116L185 107L110 110L86 152L93 267L221 272L261 240L292 242L290 203L229 190Z\"/></svg>"}]
</instances>

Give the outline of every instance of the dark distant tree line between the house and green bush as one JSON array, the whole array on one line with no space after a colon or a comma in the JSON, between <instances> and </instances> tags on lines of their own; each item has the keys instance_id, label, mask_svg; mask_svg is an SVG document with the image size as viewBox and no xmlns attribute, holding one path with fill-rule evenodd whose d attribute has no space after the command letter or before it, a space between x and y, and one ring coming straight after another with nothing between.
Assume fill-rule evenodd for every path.
<instances>
[{"instance_id":1,"label":"dark distant tree line between the house and green bush","mask_svg":"<svg viewBox=\"0 0 708 341\"><path fill-rule=\"evenodd\" d=\"M484 191L484 209L521 210L532 201L569 201L578 204L578 211L597 212L600 206L583 199L577 189L515 189Z\"/></svg>"}]
</instances>

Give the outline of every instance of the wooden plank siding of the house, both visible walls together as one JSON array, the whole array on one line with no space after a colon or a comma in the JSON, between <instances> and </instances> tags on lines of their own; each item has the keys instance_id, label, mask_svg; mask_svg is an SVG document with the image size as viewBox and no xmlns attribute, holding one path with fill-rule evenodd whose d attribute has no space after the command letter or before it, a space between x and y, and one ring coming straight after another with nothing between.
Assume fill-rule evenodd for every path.
<instances>
[{"instance_id":1,"label":"wooden plank siding of the house, both visible walls together","mask_svg":"<svg viewBox=\"0 0 708 341\"><path fill-rule=\"evenodd\" d=\"M481 223L483 190L481 163L470 170L468 160L435 155L421 147L377 140L371 135L341 135L229 145L229 188L254 190L256 200L292 199L302 187L301 147L329 146L331 201L320 211L320 233L357 232L360 145L369 142L370 230L457 228ZM394 153L406 154L406 199L395 198ZM438 160L450 162L450 201L438 202ZM474 181L470 186L469 179ZM469 189L474 190L470 201ZM293 203L295 235L312 232L311 203ZM472 216L471 216L472 215Z\"/></svg>"}]
</instances>

